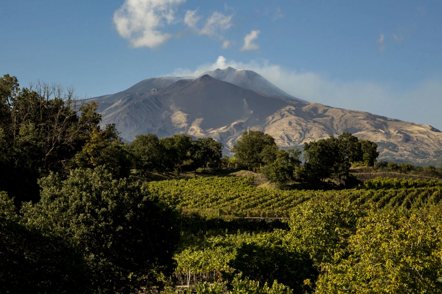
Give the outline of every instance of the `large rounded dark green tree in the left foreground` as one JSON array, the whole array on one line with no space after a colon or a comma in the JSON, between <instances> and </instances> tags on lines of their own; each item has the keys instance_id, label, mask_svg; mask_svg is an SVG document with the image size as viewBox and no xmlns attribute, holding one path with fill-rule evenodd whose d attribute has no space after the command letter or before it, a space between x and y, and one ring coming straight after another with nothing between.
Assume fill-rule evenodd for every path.
<instances>
[{"instance_id":1,"label":"large rounded dark green tree in the left foreground","mask_svg":"<svg viewBox=\"0 0 442 294\"><path fill-rule=\"evenodd\" d=\"M130 293L170 274L178 241L176 213L140 182L104 168L77 169L66 180L41 180L38 204L23 208L28 227L64 236L80 248L100 293Z\"/></svg>"}]
</instances>

